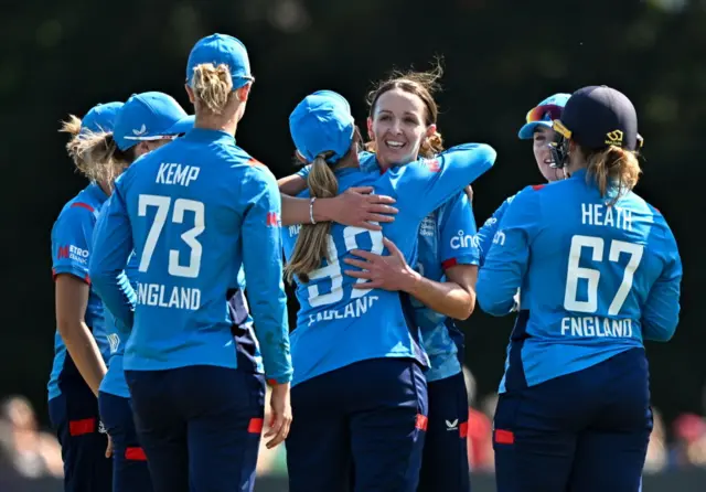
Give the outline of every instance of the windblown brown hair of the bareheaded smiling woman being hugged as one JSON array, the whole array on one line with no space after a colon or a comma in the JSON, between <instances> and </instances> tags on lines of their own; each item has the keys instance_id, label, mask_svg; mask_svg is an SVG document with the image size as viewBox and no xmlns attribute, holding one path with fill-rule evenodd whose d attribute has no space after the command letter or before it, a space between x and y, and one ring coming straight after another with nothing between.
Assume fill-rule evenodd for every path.
<instances>
[{"instance_id":1,"label":"windblown brown hair of the bareheaded smiling woman being hugged","mask_svg":"<svg viewBox=\"0 0 706 492\"><path fill-rule=\"evenodd\" d=\"M436 125L439 116L439 106L434 99L434 95L440 90L439 78L442 75L443 68L440 60L437 60L435 67L427 72L393 72L387 79L377 83L376 87L367 94L368 116L373 118L377 100L383 94L388 90L399 89L419 97L426 108L425 124L427 126ZM370 152L377 151L375 141L372 140L365 143L365 150ZM419 154L425 158L431 158L442 150L443 139L441 133L435 131L434 135L421 142Z\"/></svg>"}]
</instances>

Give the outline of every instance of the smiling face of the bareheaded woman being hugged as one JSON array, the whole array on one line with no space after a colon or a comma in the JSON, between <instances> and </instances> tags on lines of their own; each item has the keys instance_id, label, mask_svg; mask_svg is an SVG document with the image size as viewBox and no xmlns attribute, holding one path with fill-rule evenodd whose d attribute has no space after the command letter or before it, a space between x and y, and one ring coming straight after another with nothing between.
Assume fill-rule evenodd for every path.
<instances>
[{"instance_id":1,"label":"smiling face of the bareheaded woman being hugged","mask_svg":"<svg viewBox=\"0 0 706 492\"><path fill-rule=\"evenodd\" d=\"M367 130L382 168L417 160L421 143L436 131L427 119L427 107L416 94L393 88L377 98Z\"/></svg>"}]
</instances>

